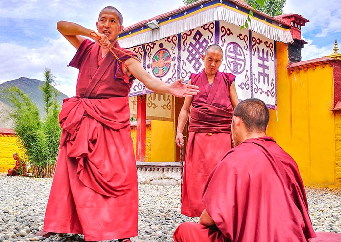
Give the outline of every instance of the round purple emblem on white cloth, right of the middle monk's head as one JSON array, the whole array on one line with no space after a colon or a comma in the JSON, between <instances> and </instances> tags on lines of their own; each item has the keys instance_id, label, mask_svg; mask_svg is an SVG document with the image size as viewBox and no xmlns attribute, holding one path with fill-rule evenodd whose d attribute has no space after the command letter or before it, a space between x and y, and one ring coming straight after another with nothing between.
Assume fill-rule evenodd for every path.
<instances>
[{"instance_id":1,"label":"round purple emblem on white cloth, right of the middle monk's head","mask_svg":"<svg viewBox=\"0 0 341 242\"><path fill-rule=\"evenodd\" d=\"M242 47L236 42L230 42L225 49L225 60L228 69L233 74L241 74L246 65L245 54Z\"/></svg>"}]
</instances>

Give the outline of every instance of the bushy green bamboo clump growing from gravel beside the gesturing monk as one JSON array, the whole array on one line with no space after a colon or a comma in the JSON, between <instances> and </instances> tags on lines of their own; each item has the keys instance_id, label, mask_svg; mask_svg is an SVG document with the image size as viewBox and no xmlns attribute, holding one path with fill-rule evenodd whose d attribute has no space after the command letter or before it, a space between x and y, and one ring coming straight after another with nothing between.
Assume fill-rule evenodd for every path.
<instances>
[{"instance_id":1,"label":"bushy green bamboo clump growing from gravel beside the gesturing monk","mask_svg":"<svg viewBox=\"0 0 341 242\"><path fill-rule=\"evenodd\" d=\"M14 107L9 115L14 121L14 130L20 144L26 149L28 162L35 177L52 177L59 149L61 127L58 115L60 105L57 101L57 90L54 76L45 69L45 85L42 86L46 115L40 119L37 105L18 87L6 90L8 101Z\"/></svg>"}]
</instances>

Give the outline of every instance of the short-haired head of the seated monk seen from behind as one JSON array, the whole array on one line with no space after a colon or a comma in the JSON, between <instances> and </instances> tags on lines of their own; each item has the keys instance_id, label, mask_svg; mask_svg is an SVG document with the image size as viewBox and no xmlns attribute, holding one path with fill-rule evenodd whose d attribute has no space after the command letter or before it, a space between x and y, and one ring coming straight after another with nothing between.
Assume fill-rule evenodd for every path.
<instances>
[{"instance_id":1,"label":"short-haired head of the seated monk seen from behind","mask_svg":"<svg viewBox=\"0 0 341 242\"><path fill-rule=\"evenodd\" d=\"M233 116L239 117L246 131L265 132L269 123L269 109L265 103L256 98L246 99L238 103L233 111Z\"/></svg>"}]
</instances>

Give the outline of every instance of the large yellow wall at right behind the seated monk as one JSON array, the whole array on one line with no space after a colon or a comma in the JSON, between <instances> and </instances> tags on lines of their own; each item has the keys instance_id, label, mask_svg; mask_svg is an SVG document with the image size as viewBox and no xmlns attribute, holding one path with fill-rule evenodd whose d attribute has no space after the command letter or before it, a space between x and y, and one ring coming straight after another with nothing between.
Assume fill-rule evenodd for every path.
<instances>
[{"instance_id":1,"label":"large yellow wall at right behind the seated monk","mask_svg":"<svg viewBox=\"0 0 341 242\"><path fill-rule=\"evenodd\" d=\"M335 185L333 69L316 66L288 74L286 46L277 45L277 111L267 134L297 162L305 185Z\"/></svg>"}]
</instances>

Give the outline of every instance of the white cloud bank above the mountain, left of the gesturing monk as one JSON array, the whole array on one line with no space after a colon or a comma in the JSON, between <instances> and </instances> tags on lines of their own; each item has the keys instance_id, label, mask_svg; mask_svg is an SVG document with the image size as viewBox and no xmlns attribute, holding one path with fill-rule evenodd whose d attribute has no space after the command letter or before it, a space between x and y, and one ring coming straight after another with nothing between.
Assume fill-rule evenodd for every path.
<instances>
[{"instance_id":1,"label":"white cloud bank above the mountain, left of the gesturing monk","mask_svg":"<svg viewBox=\"0 0 341 242\"><path fill-rule=\"evenodd\" d=\"M0 83L22 76L44 80L44 69L48 68L61 86L68 86L63 92L68 96L75 95L78 70L67 65L76 49L64 38L46 42L47 45L40 48L0 43Z\"/></svg>"}]
</instances>

